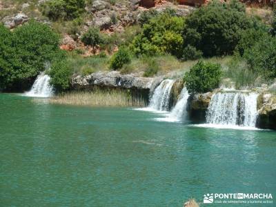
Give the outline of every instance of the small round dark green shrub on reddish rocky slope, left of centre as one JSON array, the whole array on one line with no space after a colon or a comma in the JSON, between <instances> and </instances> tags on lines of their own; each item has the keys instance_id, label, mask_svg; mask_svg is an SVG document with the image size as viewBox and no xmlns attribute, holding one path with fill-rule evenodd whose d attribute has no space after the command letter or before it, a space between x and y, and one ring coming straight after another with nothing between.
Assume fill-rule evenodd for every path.
<instances>
[{"instance_id":1,"label":"small round dark green shrub on reddish rocky slope, left of centre","mask_svg":"<svg viewBox=\"0 0 276 207\"><path fill-rule=\"evenodd\" d=\"M89 30L82 35L81 41L86 46L92 46L94 50L95 46L103 43L104 39L99 31L99 28L89 28Z\"/></svg>"}]
</instances>

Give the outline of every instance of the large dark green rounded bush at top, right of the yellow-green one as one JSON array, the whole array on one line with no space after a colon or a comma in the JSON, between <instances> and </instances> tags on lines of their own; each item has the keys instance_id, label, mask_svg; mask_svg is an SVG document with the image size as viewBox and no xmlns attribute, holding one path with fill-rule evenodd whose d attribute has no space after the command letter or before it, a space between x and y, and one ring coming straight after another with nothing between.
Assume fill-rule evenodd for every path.
<instances>
[{"instance_id":1,"label":"large dark green rounded bush at top, right of the yellow-green one","mask_svg":"<svg viewBox=\"0 0 276 207\"><path fill-rule=\"evenodd\" d=\"M232 54L241 32L251 27L242 3L213 1L186 19L184 39L206 57Z\"/></svg>"}]
</instances>

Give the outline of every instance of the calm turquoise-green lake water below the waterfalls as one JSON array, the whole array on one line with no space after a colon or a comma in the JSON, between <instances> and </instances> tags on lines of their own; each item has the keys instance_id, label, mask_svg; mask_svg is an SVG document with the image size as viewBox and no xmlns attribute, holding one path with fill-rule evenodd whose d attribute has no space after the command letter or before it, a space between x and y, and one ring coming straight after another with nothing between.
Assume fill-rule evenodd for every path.
<instances>
[{"instance_id":1,"label":"calm turquoise-green lake water below the waterfalls","mask_svg":"<svg viewBox=\"0 0 276 207\"><path fill-rule=\"evenodd\" d=\"M183 206L206 193L272 193L276 206L275 131L160 116L0 95L0 206Z\"/></svg>"}]
</instances>

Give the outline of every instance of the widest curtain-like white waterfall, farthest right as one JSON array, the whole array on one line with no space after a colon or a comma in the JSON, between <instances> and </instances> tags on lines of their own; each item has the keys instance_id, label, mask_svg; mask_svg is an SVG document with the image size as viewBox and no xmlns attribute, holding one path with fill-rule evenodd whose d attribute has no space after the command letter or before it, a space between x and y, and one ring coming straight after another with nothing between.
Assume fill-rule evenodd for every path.
<instances>
[{"instance_id":1,"label":"widest curtain-like white waterfall, farthest right","mask_svg":"<svg viewBox=\"0 0 276 207\"><path fill-rule=\"evenodd\" d=\"M257 96L254 92L217 92L207 110L207 123L255 127Z\"/></svg>"}]
</instances>

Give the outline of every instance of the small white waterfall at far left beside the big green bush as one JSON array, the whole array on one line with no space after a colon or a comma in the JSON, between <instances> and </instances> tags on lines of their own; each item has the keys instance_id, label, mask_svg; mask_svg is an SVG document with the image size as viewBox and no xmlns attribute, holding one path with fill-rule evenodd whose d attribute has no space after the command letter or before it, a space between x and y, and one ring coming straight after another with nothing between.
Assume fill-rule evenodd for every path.
<instances>
[{"instance_id":1,"label":"small white waterfall at far left beside the big green bush","mask_svg":"<svg viewBox=\"0 0 276 207\"><path fill-rule=\"evenodd\" d=\"M28 97L51 97L53 95L53 88L50 86L50 77L41 72L35 79L32 89L26 92Z\"/></svg>"}]
</instances>

